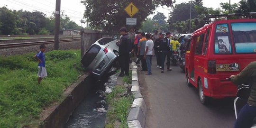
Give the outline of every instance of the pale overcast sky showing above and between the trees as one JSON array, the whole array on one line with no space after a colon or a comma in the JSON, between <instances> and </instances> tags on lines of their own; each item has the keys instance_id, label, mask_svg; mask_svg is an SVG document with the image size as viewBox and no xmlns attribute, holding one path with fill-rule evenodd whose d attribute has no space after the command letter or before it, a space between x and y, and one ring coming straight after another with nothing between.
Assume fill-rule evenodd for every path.
<instances>
[{"instance_id":1,"label":"pale overcast sky showing above and between the trees","mask_svg":"<svg viewBox=\"0 0 256 128\"><path fill-rule=\"evenodd\" d=\"M50 17L52 15L52 12L55 11L55 0L0 0L0 7L6 6L8 9L23 9L28 11L42 11L47 15L47 17ZM65 14L71 18L71 20L75 21L78 25L81 26L81 23L79 20L83 17L83 12L85 10L85 6L80 3L81 0L61 0L61 10L65 11ZM190 0L176 0L175 4L179 4L182 2L188 2ZM221 2L229 2L229 0L202 0L203 6L205 7L212 7L214 9L219 8L219 3ZM231 4L238 3L240 0L231 0ZM175 6L174 4L174 6ZM171 8L164 7L158 7L155 10L155 14L157 12L163 12L165 14L165 17L168 18L168 10ZM153 18L155 15L150 15L150 18ZM83 27L86 25L83 24Z\"/></svg>"}]
</instances>

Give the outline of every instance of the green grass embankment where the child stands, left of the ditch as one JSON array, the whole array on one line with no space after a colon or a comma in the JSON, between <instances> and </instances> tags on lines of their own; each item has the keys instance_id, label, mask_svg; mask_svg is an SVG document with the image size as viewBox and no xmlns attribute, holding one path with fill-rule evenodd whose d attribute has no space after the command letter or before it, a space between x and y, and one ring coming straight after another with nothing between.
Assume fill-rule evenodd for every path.
<instances>
[{"instance_id":1,"label":"green grass embankment where the child stands, left of the ditch","mask_svg":"<svg viewBox=\"0 0 256 128\"><path fill-rule=\"evenodd\" d=\"M35 53L0 56L0 128L37 125L40 112L63 99L64 88L82 73L80 50L50 51L48 76L37 84Z\"/></svg>"}]
</instances>

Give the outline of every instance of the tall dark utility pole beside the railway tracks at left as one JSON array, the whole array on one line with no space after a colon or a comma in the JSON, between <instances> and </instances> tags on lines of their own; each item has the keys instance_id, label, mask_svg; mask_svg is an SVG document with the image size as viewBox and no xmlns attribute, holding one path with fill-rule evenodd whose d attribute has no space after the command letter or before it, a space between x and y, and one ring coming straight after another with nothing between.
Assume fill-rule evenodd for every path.
<instances>
[{"instance_id":1,"label":"tall dark utility pole beside the railway tracks at left","mask_svg":"<svg viewBox=\"0 0 256 128\"><path fill-rule=\"evenodd\" d=\"M56 0L54 50L58 50L59 49L59 40L60 40L60 1L61 0Z\"/></svg>"}]
</instances>

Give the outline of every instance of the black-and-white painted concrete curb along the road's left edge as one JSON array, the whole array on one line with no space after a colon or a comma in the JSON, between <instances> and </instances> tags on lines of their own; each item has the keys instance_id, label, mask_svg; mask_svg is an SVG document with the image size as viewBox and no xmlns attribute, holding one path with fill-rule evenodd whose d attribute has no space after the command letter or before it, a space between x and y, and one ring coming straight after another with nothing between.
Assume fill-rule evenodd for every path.
<instances>
[{"instance_id":1,"label":"black-and-white painted concrete curb along the road's left edge","mask_svg":"<svg viewBox=\"0 0 256 128\"><path fill-rule=\"evenodd\" d=\"M140 93L137 65L132 64L132 88L131 92L134 94L134 101L129 112L127 123L128 128L145 128L146 123L146 103Z\"/></svg>"}]
</instances>

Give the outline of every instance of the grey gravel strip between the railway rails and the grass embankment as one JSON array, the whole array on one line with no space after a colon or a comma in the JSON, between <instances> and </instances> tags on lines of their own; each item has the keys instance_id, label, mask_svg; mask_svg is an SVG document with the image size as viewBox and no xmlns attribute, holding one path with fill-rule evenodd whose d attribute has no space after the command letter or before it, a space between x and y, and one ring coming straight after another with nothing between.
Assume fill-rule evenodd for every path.
<instances>
[{"instance_id":1,"label":"grey gravel strip between the railway rails and the grass embankment","mask_svg":"<svg viewBox=\"0 0 256 128\"><path fill-rule=\"evenodd\" d=\"M12 48L5 48L0 49L0 55L22 55L26 53L37 53L39 52L39 46L24 46L24 47L12 47ZM62 42L59 43L60 50L69 50L69 49L80 49L81 48L81 41L72 41L72 42ZM46 52L54 50L54 43L46 45Z\"/></svg>"}]
</instances>

